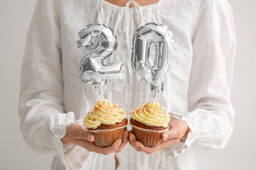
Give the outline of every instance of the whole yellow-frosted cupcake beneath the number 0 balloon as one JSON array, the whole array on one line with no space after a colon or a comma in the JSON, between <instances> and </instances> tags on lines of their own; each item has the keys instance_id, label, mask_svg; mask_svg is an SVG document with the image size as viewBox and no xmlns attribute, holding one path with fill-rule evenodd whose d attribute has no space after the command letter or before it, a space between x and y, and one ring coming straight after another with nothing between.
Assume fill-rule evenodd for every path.
<instances>
[{"instance_id":1,"label":"whole yellow-frosted cupcake beneath the number 0 balloon","mask_svg":"<svg viewBox=\"0 0 256 170\"><path fill-rule=\"evenodd\" d=\"M131 112L130 125L136 140L145 146L156 146L161 143L161 135L169 130L170 115L159 103L142 104Z\"/></svg>"}]
</instances>

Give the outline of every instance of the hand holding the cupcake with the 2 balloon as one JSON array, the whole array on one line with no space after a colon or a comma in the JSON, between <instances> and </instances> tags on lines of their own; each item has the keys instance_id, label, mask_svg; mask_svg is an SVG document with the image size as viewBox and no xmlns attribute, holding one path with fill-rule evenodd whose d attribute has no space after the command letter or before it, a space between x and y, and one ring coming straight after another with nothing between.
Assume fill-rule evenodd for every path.
<instances>
[{"instance_id":1,"label":"hand holding the cupcake with the 2 balloon","mask_svg":"<svg viewBox=\"0 0 256 170\"><path fill-rule=\"evenodd\" d=\"M128 142L128 131L125 129L123 140L114 141L114 143L110 147L98 147L93 142L95 140L94 135L88 132L85 129L85 126L80 124L72 124L68 125L65 136L60 140L83 147L89 152L107 155L111 154L112 152L122 151L122 149Z\"/></svg>"}]
</instances>

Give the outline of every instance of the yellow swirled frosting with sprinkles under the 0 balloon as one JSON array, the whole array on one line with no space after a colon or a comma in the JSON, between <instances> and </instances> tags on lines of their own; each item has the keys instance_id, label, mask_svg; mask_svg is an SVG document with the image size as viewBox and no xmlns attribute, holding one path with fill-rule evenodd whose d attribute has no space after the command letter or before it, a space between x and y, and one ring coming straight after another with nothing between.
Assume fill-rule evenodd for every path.
<instances>
[{"instance_id":1,"label":"yellow swirled frosting with sprinkles under the 0 balloon","mask_svg":"<svg viewBox=\"0 0 256 170\"><path fill-rule=\"evenodd\" d=\"M131 117L140 123L155 127L168 127L170 121L169 113L166 113L164 108L161 108L159 103L142 104L139 108L134 108L130 112Z\"/></svg>"}]
</instances>

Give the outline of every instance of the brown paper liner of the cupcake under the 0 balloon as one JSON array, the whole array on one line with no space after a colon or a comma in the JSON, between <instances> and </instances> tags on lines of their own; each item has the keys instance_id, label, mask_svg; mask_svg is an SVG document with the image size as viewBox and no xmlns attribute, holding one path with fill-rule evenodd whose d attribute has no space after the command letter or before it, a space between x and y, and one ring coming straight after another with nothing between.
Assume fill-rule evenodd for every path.
<instances>
[{"instance_id":1,"label":"brown paper liner of the cupcake under the 0 balloon","mask_svg":"<svg viewBox=\"0 0 256 170\"><path fill-rule=\"evenodd\" d=\"M136 136L136 140L141 142L144 146L156 146L161 143L161 135L163 132L169 130L169 127L165 130L149 130L144 128L139 128L132 123L129 123L132 126L132 132Z\"/></svg>"}]
</instances>

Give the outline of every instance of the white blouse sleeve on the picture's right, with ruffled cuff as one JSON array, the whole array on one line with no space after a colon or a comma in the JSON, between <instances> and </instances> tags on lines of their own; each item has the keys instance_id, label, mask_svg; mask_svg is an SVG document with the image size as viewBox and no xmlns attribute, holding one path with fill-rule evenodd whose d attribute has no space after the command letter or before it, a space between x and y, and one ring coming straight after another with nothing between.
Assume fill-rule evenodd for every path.
<instances>
[{"instance_id":1,"label":"white blouse sleeve on the picture's right, with ruffled cuff","mask_svg":"<svg viewBox=\"0 0 256 170\"><path fill-rule=\"evenodd\" d=\"M203 9L192 38L193 62L188 86L188 113L181 116L191 131L173 156L192 144L222 149L230 139L234 109L230 89L235 57L233 12L226 0L213 0Z\"/></svg>"}]
</instances>

